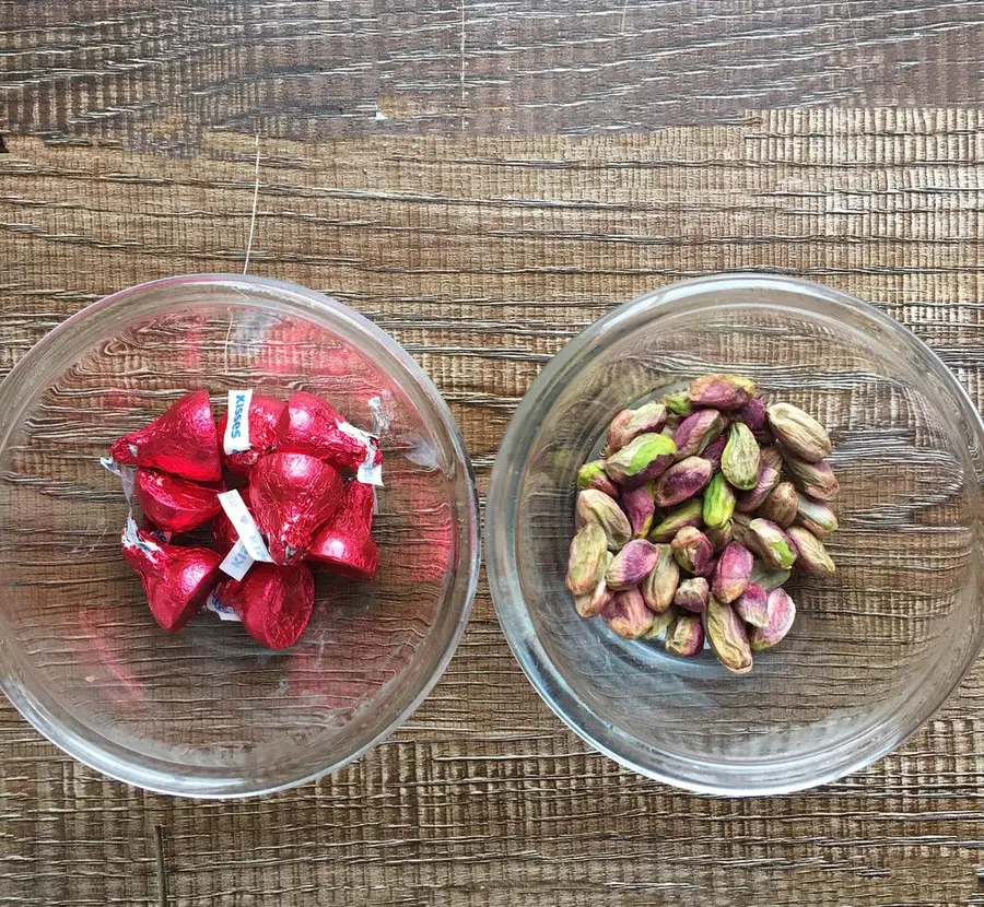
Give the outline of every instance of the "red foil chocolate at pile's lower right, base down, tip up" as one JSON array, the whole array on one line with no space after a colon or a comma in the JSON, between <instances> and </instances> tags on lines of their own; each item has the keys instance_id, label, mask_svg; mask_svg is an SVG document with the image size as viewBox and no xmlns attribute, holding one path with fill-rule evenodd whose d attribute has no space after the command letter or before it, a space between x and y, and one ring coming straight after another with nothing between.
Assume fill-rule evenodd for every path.
<instances>
[{"instance_id":1,"label":"red foil chocolate at pile's lower right, base down, tip up","mask_svg":"<svg viewBox=\"0 0 984 907\"><path fill-rule=\"evenodd\" d=\"M307 559L351 579L372 579L379 567L373 541L372 485L349 482L335 516L315 535Z\"/></svg>"}]
</instances>

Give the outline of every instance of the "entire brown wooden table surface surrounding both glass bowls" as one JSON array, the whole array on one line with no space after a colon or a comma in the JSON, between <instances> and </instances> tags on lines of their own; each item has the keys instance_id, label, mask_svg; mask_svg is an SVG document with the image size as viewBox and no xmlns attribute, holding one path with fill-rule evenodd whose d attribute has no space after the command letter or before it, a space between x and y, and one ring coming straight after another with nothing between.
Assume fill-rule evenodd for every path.
<instances>
[{"instance_id":1,"label":"entire brown wooden table surface surrounding both glass bowls","mask_svg":"<svg viewBox=\"0 0 984 907\"><path fill-rule=\"evenodd\" d=\"M982 68L980 2L0 0L0 368L108 292L242 270L258 143L250 272L390 331L482 495L570 338L713 271L870 299L980 407ZM690 796L561 726L483 580L403 728L261 800L127 788L4 700L0 905L984 904L982 706L977 668L866 771Z\"/></svg>"}]
</instances>

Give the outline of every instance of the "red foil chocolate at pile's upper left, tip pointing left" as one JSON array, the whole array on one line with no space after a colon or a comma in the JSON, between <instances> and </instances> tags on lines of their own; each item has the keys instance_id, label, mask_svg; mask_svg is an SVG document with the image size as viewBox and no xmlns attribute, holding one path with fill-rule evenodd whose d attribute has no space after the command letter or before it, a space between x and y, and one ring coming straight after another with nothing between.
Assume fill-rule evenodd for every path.
<instances>
[{"instance_id":1,"label":"red foil chocolate at pile's upper left, tip pointing left","mask_svg":"<svg viewBox=\"0 0 984 907\"><path fill-rule=\"evenodd\" d=\"M120 466L150 467L192 482L219 482L219 448L209 392L196 390L149 425L124 435L109 452Z\"/></svg>"}]
</instances>

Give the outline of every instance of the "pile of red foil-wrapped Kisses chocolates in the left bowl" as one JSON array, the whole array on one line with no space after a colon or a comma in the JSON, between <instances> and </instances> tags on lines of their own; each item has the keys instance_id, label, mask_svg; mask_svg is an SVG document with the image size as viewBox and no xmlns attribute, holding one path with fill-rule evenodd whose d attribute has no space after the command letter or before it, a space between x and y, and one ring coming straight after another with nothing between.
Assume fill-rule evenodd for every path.
<instances>
[{"instance_id":1,"label":"pile of red foil-wrapped Kisses chocolates in the left bowl","mask_svg":"<svg viewBox=\"0 0 984 907\"><path fill-rule=\"evenodd\" d=\"M179 631L208 603L282 649L314 609L308 565L375 576L383 457L375 437L314 394L284 403L231 391L229 401L216 425L208 391L195 391L113 445L104 464L143 514L140 528L127 521L122 555L164 629ZM195 539L209 523L210 547Z\"/></svg>"}]
</instances>

